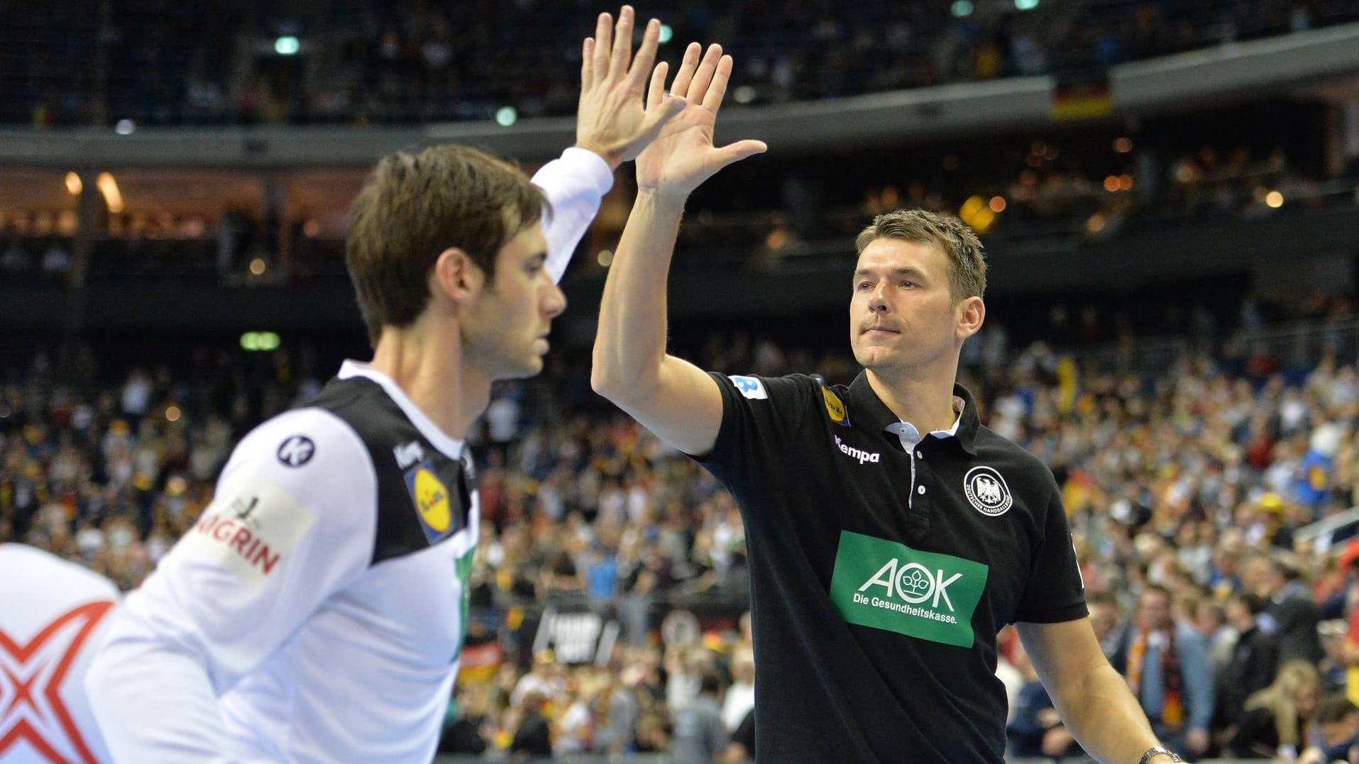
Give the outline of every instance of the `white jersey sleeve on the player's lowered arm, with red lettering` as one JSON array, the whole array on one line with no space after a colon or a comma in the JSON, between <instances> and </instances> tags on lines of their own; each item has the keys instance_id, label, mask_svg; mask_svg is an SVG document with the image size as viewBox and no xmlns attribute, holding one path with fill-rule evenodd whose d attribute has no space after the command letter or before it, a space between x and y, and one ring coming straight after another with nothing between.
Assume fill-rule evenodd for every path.
<instances>
[{"instance_id":1,"label":"white jersey sleeve on the player's lowered arm, with red lettering","mask_svg":"<svg viewBox=\"0 0 1359 764\"><path fill-rule=\"evenodd\" d=\"M117 761L230 761L219 699L372 559L376 477L318 408L251 431L212 504L132 593L86 687Z\"/></svg>"}]
</instances>

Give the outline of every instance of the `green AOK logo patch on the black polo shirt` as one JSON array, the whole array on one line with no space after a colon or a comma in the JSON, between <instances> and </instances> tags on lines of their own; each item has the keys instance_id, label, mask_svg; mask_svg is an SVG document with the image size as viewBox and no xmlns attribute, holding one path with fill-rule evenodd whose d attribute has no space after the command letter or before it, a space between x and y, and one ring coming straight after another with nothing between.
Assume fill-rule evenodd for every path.
<instances>
[{"instance_id":1,"label":"green AOK logo patch on the black polo shirt","mask_svg":"<svg viewBox=\"0 0 1359 764\"><path fill-rule=\"evenodd\" d=\"M830 601L851 624L972 647L972 613L988 572L973 560L844 530Z\"/></svg>"}]
</instances>

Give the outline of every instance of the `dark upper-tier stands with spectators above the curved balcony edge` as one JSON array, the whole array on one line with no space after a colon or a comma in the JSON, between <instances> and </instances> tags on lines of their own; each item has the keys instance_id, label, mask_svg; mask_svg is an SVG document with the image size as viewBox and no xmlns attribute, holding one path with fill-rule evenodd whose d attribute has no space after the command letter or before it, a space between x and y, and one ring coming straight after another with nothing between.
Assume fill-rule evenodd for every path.
<instances>
[{"instance_id":1,"label":"dark upper-tier stands with spectators above the curved balcony edge","mask_svg":"<svg viewBox=\"0 0 1359 764\"><path fill-rule=\"evenodd\" d=\"M594 3L232 0L0 7L0 121L390 124L575 110ZM1026 10L1017 10L1017 5ZM607 8L610 11L616 8ZM1114 64L1351 20L1344 0L746 1L640 8L735 54L739 102L815 99ZM276 48L279 38L294 42ZM288 54L284 54L287 52Z\"/></svg>"}]
</instances>

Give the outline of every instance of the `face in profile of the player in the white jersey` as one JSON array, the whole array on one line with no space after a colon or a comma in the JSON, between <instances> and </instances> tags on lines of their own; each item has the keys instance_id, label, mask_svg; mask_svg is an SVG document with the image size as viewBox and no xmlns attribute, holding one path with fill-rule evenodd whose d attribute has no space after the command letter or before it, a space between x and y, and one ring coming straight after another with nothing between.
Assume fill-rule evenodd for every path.
<instances>
[{"instance_id":1,"label":"face in profile of the player in the white jersey","mask_svg":"<svg viewBox=\"0 0 1359 764\"><path fill-rule=\"evenodd\" d=\"M495 279L465 324L467 349L492 379L542 371L552 319L567 307L565 295L544 266L546 258L548 239L541 226L510 239L496 254Z\"/></svg>"}]
</instances>

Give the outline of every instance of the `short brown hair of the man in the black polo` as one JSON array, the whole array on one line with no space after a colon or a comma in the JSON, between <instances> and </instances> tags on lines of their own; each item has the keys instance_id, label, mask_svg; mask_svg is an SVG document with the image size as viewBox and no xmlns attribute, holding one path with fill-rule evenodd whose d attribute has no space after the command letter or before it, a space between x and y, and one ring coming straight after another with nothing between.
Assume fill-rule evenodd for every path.
<instances>
[{"instance_id":1,"label":"short brown hair of the man in the black polo","mask_svg":"<svg viewBox=\"0 0 1359 764\"><path fill-rule=\"evenodd\" d=\"M872 219L855 239L858 254L877 239L939 245L949 256L949 296L953 302L980 298L987 291L987 258L981 241L962 220L927 209L897 209Z\"/></svg>"}]
</instances>

